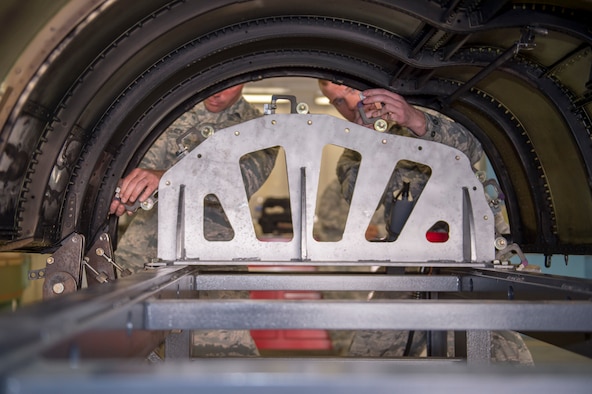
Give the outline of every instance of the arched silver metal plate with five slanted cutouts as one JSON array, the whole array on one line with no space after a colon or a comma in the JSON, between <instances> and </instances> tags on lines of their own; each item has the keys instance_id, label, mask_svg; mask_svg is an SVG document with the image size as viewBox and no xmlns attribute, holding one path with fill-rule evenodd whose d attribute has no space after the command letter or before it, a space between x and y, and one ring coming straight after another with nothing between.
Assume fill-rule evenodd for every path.
<instances>
[{"instance_id":1,"label":"arched silver metal plate with five slanted cutouts","mask_svg":"<svg viewBox=\"0 0 592 394\"><path fill-rule=\"evenodd\" d=\"M362 155L356 191L339 242L317 242L312 236L322 151L328 144ZM239 168L243 155L273 146L281 146L286 152L294 227L294 237L287 242L257 239ZM368 242L365 229L396 163L403 159L428 165L430 180L399 238L395 242ZM218 197L234 229L230 241L208 241L204 237L204 197L210 193ZM489 262L494 258L493 214L466 156L442 144L379 133L327 115L266 115L220 130L165 173L159 198L158 255L166 261L389 261L429 265ZM181 211L182 226L177 222ZM450 238L431 243L426 232L438 221L448 223ZM177 231L179 227L183 232ZM184 248L177 250L177 245Z\"/></svg>"}]
</instances>

